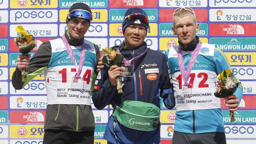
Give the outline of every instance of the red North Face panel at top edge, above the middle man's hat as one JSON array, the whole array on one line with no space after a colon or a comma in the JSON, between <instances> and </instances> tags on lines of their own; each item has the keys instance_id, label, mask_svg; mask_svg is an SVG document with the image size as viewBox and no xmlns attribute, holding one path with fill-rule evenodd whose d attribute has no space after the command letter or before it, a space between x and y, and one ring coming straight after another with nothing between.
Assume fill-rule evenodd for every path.
<instances>
[{"instance_id":1,"label":"red North Face panel at top edge, above the middle man's hat","mask_svg":"<svg viewBox=\"0 0 256 144\"><path fill-rule=\"evenodd\" d=\"M156 7L157 0L109 0L110 7Z\"/></svg>"}]
</instances>

